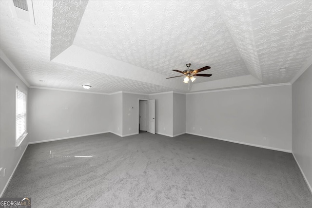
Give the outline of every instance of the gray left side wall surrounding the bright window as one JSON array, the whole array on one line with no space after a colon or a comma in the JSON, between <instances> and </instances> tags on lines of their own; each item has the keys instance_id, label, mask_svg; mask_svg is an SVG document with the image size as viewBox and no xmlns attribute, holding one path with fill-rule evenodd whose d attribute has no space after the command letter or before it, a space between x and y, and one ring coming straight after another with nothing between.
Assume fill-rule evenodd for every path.
<instances>
[{"instance_id":1,"label":"gray left side wall surrounding the bright window","mask_svg":"<svg viewBox=\"0 0 312 208\"><path fill-rule=\"evenodd\" d=\"M28 95L27 86L15 75L4 61L0 59L0 167L3 169L5 168L5 176L3 177L3 170L1 170L0 176L1 193L13 173L14 168L18 164L20 156L28 144L29 137L29 135L26 136L20 144L20 147L17 149L15 148L16 84L23 88ZM29 111L27 115L29 115ZM29 123L27 123L27 132L29 132L28 127Z\"/></svg>"}]
</instances>

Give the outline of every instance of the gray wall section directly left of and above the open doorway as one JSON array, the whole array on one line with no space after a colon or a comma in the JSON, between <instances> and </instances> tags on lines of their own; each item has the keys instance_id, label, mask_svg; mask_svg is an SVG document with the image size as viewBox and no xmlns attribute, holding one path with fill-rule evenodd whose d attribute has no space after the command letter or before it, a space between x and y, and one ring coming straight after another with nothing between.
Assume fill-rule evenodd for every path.
<instances>
[{"instance_id":1,"label":"gray wall section directly left of and above the open doorway","mask_svg":"<svg viewBox=\"0 0 312 208\"><path fill-rule=\"evenodd\" d=\"M122 93L122 135L138 133L138 99L148 95ZM130 128L130 129L129 129Z\"/></svg>"}]
</instances>

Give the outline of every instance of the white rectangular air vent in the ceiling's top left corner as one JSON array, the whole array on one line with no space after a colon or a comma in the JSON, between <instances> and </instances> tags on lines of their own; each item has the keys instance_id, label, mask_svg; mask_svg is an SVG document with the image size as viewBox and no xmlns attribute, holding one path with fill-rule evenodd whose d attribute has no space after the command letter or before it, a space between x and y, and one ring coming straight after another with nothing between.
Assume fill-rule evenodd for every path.
<instances>
[{"instance_id":1,"label":"white rectangular air vent in the ceiling's top left corner","mask_svg":"<svg viewBox=\"0 0 312 208\"><path fill-rule=\"evenodd\" d=\"M32 24L36 24L32 0L12 0L9 2L13 18L22 19Z\"/></svg>"}]
</instances>

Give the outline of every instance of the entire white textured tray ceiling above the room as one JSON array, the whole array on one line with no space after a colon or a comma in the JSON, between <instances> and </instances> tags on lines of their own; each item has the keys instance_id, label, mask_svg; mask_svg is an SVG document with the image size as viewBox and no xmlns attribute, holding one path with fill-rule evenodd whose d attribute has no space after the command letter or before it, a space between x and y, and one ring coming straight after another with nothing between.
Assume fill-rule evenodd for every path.
<instances>
[{"instance_id":1,"label":"entire white textured tray ceiling above the room","mask_svg":"<svg viewBox=\"0 0 312 208\"><path fill-rule=\"evenodd\" d=\"M152 94L267 85L290 82L312 58L308 0L36 0L36 25L12 17L12 4L0 1L1 58L29 86ZM190 88L165 79L186 63L213 76Z\"/></svg>"}]
</instances>

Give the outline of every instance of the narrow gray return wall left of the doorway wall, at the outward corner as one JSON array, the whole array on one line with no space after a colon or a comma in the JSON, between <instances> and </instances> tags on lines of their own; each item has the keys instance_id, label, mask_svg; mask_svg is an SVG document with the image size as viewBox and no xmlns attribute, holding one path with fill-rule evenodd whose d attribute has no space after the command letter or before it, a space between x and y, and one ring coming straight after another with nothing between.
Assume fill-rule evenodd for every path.
<instances>
[{"instance_id":1,"label":"narrow gray return wall left of the doorway wall, at the outward corner","mask_svg":"<svg viewBox=\"0 0 312 208\"><path fill-rule=\"evenodd\" d=\"M110 131L122 136L122 93L109 95L110 108L106 111L111 112Z\"/></svg>"}]
</instances>

